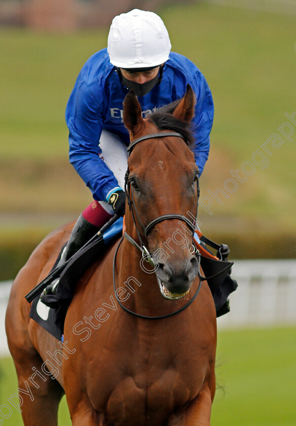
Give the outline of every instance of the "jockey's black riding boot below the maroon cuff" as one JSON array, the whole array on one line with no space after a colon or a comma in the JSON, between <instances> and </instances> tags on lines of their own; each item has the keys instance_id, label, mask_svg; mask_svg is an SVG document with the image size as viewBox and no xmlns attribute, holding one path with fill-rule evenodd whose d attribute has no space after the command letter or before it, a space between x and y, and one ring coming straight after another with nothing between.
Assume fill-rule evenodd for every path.
<instances>
[{"instance_id":1,"label":"jockey's black riding boot below the maroon cuff","mask_svg":"<svg viewBox=\"0 0 296 426\"><path fill-rule=\"evenodd\" d=\"M82 215L78 218L78 221L74 225L70 238L65 246L63 253L56 267L61 266L64 262L70 259L78 250L87 243L99 228L89 223ZM54 279L43 291L41 295L41 301L46 305L49 305L47 300L44 300L46 295L55 295L56 289L59 283L59 278ZM48 299L48 298L47 298Z\"/></svg>"}]
</instances>

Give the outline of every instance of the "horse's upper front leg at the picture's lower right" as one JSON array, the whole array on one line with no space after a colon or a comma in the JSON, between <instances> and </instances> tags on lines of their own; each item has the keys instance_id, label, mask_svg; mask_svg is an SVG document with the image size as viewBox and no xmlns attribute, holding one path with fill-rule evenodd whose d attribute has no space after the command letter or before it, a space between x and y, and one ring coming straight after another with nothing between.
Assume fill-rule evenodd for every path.
<instances>
[{"instance_id":1,"label":"horse's upper front leg at the picture's lower right","mask_svg":"<svg viewBox=\"0 0 296 426\"><path fill-rule=\"evenodd\" d=\"M215 395L215 383L204 383L197 397L179 413L173 414L167 426L210 426L211 407Z\"/></svg>"}]
</instances>

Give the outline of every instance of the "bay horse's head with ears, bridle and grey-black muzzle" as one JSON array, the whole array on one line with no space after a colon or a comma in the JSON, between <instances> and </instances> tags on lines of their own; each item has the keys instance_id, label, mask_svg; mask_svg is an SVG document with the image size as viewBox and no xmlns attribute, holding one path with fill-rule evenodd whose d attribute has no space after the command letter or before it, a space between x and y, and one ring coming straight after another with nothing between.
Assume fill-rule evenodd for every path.
<instances>
[{"instance_id":1,"label":"bay horse's head with ears, bridle and grey-black muzzle","mask_svg":"<svg viewBox=\"0 0 296 426\"><path fill-rule=\"evenodd\" d=\"M197 212L199 170L188 146L193 143L194 105L188 85L180 101L145 119L132 91L123 108L131 139L127 193L133 215L127 211L127 229L133 216L130 226L139 239L146 238L162 295L169 299L188 294L198 273L190 217Z\"/></svg>"}]
</instances>

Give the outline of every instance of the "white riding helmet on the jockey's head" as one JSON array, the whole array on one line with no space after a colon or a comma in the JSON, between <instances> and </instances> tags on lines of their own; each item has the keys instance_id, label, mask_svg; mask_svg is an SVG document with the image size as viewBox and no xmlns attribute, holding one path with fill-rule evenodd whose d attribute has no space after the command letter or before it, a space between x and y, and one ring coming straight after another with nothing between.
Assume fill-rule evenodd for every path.
<instances>
[{"instance_id":1,"label":"white riding helmet on the jockey's head","mask_svg":"<svg viewBox=\"0 0 296 426\"><path fill-rule=\"evenodd\" d=\"M133 9L116 16L108 35L110 62L119 68L146 68L168 60L171 43L161 18Z\"/></svg>"}]
</instances>

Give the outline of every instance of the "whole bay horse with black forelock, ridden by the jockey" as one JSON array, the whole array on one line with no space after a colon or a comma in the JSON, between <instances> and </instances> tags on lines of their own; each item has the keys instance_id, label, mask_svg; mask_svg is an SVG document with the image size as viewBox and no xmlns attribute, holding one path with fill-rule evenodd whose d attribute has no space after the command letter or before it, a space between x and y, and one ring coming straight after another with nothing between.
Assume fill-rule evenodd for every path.
<instances>
[{"instance_id":1,"label":"whole bay horse with black forelock, ridden by the jockey","mask_svg":"<svg viewBox=\"0 0 296 426\"><path fill-rule=\"evenodd\" d=\"M190 86L145 118L127 94L125 236L78 280L63 341L29 318L24 296L50 272L73 223L52 231L14 280L6 330L25 426L56 425L64 394L73 426L210 424L216 313L188 218L198 203L194 108Z\"/></svg>"}]
</instances>

